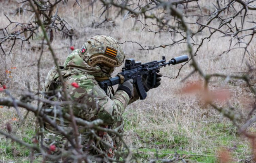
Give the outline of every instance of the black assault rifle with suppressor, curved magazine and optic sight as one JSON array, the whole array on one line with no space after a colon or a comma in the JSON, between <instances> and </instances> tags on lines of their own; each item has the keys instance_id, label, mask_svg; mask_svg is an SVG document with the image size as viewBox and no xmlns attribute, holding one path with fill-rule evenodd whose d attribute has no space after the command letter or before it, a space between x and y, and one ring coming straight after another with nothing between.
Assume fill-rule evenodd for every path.
<instances>
[{"instance_id":1,"label":"black assault rifle with suppressor, curved magazine and optic sight","mask_svg":"<svg viewBox=\"0 0 256 163\"><path fill-rule=\"evenodd\" d=\"M165 67L166 65L170 66L170 64L180 64L188 60L187 55L175 57L167 62L164 56L162 58L163 59L160 61L151 61L145 64L137 61L135 62L134 59L126 59L121 73L114 78L109 78L108 80L101 81L98 84L107 93L108 86L117 85L126 80L133 79L140 99L145 99L147 97L147 92L142 84L143 75L147 74L147 76L151 76L153 80L152 87L155 87L156 73L159 73L160 68L163 66Z\"/></svg>"}]
</instances>

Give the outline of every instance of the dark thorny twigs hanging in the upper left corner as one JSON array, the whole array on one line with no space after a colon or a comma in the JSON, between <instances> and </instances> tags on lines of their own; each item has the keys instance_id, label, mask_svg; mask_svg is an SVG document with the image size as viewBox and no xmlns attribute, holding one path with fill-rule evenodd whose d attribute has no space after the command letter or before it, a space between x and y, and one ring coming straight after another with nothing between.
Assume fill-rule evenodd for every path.
<instances>
[{"instance_id":1,"label":"dark thorny twigs hanging in the upper left corner","mask_svg":"<svg viewBox=\"0 0 256 163\"><path fill-rule=\"evenodd\" d=\"M0 29L0 32L2 33L2 35L0 35L0 47L2 53L4 55L7 54L7 48L5 46L5 43L9 41L13 41L13 43L8 54L12 52L12 49L18 40L21 40L22 49L22 45L24 42L30 43L33 38L38 37L38 33L40 32L40 24L38 23L38 20L43 20L42 23L44 24L45 29L50 36L50 42L52 42L54 38L53 30L55 31L55 33L57 33L57 31L64 33L72 40L73 33L71 28L69 27L69 24L67 24L64 19L58 16L58 5L61 1L62 0L56 0L54 3L51 3L48 0L45 2L33 0L33 5L35 5L36 7L35 9L33 9L30 3L28 3L28 0L21 2L22 7L20 8L20 10L23 12L28 12L28 14L30 14L30 12L32 13L30 22L15 22L12 21L9 16L7 16L7 14L5 14L5 17L9 21L9 24L5 28ZM28 7L32 8L27 9ZM56 12L53 13L55 9ZM38 19L38 17L35 17L36 11L38 11L38 17L40 19Z\"/></svg>"}]
</instances>

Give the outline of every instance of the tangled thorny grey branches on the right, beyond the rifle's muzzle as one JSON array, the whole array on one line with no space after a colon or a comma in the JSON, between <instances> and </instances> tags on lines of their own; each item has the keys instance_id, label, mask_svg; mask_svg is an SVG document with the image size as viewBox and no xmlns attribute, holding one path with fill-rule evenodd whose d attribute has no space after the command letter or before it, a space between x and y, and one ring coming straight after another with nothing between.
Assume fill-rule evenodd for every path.
<instances>
[{"instance_id":1,"label":"tangled thorny grey branches on the right, beyond the rifle's muzzle","mask_svg":"<svg viewBox=\"0 0 256 163\"><path fill-rule=\"evenodd\" d=\"M143 29L146 29L149 33L161 34L161 33L168 33L171 35L172 43L165 44L165 45L154 45L154 46L143 46L140 43L138 43L135 40L132 41L125 41L124 43L136 43L140 46L140 50L155 50L156 48L166 48L167 46L174 46L181 43L187 43L187 52L190 54L190 61L192 62L191 66L194 67L194 70L187 76L184 80L189 78L194 73L199 73L199 75L204 78L205 85L204 89L209 89L209 83L210 79L212 77L219 77L219 78L229 78L229 79L242 79L244 82L247 83L249 89L254 94L254 97L256 96L256 90L255 88L250 84L249 77L247 75L243 76L234 76L234 75L223 75L223 74L206 74L204 71L199 67L197 64L197 61L195 59L195 56L197 56L197 53L199 52L199 48L204 45L205 40L210 40L212 35L215 35L216 33L222 34L221 37L229 37L230 38L230 47L228 50L226 50L224 53L228 53L231 50L235 49L244 49L244 52L242 54L242 62L244 60L244 57L247 54L249 54L248 47L251 45L251 42L253 39L255 39L255 33L256 33L256 26L255 23L246 22L245 20L249 15L255 16L256 13L253 12L253 10L256 9L255 5L252 5L255 0L250 1L242 1L242 0L229 0L229 1L216 1L215 11L211 12L211 14L195 14L194 17L196 17L196 22L187 22L187 19L183 16L182 13L180 13L179 9L177 9L177 4L174 7L174 3L172 2L166 2L161 0L151 0L147 5L140 4L138 2L137 8L132 9L130 6L126 5L125 7L122 4L118 4L117 2L113 0L101 0L101 2L104 5L112 5L114 7L118 7L121 10L128 10L129 14L131 15L131 18L136 18L139 15L142 16L144 19L153 19L156 21L157 24L153 24L149 26L146 23L142 23L142 20L136 20L139 21L144 25ZM181 2L181 1L179 1ZM188 1L183 1L187 4ZM198 4L198 3L197 3ZM255 4L255 3L254 3ZM147 6L147 7L145 7ZM199 6L198 6L199 7ZM152 13L152 9L163 9L163 12L161 14L157 15L156 13ZM185 9L186 6L184 6ZM201 11L201 8L200 12ZM251 14L248 14L248 12L251 11ZM183 10L185 12L185 10ZM224 12L230 13L227 16L221 16ZM120 12L119 12L120 13ZM241 15L242 16L241 16ZM170 21L170 16L173 19L173 21ZM208 19L205 19L208 17ZM237 19L242 18L241 26L237 25ZM201 23L205 21L206 23ZM144 21L145 22L145 21ZM216 24L218 22L218 24ZM244 24L247 23L247 25L251 25L249 28L244 28ZM199 26L197 31L192 31L190 29L191 26ZM157 27L157 28L156 28ZM143 30L142 29L142 30ZM154 30L153 30L154 29ZM178 30L177 30L178 29ZM209 36L202 37L201 42L196 43L193 38L199 37L203 32L205 32L205 29L208 29L210 32ZM176 39L173 40L173 35L176 35ZM178 36L177 36L178 35ZM237 41L236 43L235 40ZM244 46L240 46L243 44ZM196 47L196 50L194 51L193 47ZM220 54L222 55L222 54ZM254 54L255 55L255 54ZM178 70L178 75L183 68L184 65L180 67ZM176 78L178 77L176 76ZM170 78L170 77L169 77ZM255 118L251 118L249 121L247 121L244 125L240 125L237 120L238 117L230 110L226 110L217 104L214 104L214 102L209 102L209 105L212 106L214 109L219 111L223 114L223 116L229 118L235 126L239 129L240 133L244 134L248 137L248 134L246 132L246 128L254 123L256 120ZM255 139L256 135L250 135L250 139Z\"/></svg>"}]
</instances>

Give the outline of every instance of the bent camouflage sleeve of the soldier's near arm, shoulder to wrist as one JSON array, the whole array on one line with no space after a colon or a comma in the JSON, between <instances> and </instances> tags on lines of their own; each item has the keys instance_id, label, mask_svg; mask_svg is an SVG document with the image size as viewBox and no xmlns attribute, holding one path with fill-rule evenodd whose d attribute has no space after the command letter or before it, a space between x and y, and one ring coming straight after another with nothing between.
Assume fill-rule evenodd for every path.
<instances>
[{"instance_id":1,"label":"bent camouflage sleeve of the soldier's near arm, shoulder to wrist","mask_svg":"<svg viewBox=\"0 0 256 163\"><path fill-rule=\"evenodd\" d=\"M79 87L72 87L72 82L78 83ZM73 101L79 103L72 107L75 116L85 120L102 119L105 125L119 121L130 100L122 90L110 99L94 79L70 78L67 88Z\"/></svg>"}]
</instances>

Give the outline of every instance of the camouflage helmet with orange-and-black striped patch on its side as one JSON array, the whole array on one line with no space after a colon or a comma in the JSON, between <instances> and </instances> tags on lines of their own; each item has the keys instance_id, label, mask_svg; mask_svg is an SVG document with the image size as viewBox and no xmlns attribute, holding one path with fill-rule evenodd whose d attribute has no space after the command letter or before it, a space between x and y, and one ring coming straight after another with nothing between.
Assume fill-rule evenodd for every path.
<instances>
[{"instance_id":1,"label":"camouflage helmet with orange-and-black striped patch on its side","mask_svg":"<svg viewBox=\"0 0 256 163\"><path fill-rule=\"evenodd\" d=\"M81 57L90 66L100 66L112 73L116 66L121 66L125 59L123 48L110 36L96 35L83 44Z\"/></svg>"}]
</instances>

